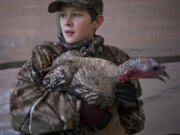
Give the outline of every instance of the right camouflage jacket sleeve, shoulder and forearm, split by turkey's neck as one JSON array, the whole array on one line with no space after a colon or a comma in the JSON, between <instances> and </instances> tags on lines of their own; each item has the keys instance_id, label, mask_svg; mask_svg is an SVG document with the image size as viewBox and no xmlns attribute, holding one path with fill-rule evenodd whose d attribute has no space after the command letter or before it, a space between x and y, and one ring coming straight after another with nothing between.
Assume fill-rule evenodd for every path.
<instances>
[{"instance_id":1,"label":"right camouflage jacket sleeve, shoulder and forearm, split by turkey's neck","mask_svg":"<svg viewBox=\"0 0 180 135\"><path fill-rule=\"evenodd\" d=\"M105 52L106 57L110 57L111 61L115 64L121 64L124 61L129 59L129 56L124 53L122 50L116 47L106 47L108 49ZM128 134L134 134L141 131L144 128L145 123L145 114L143 109L143 102L140 99L142 95L142 89L140 82L138 80L131 81L131 83L136 88L136 104L130 108L118 108L122 111L119 111L119 119L122 126L125 128Z\"/></svg>"}]
</instances>

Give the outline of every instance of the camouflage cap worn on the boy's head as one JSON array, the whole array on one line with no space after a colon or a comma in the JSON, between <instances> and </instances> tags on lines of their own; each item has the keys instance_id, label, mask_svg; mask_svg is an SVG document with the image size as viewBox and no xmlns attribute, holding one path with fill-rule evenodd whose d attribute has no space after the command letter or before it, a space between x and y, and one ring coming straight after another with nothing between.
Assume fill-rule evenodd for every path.
<instances>
[{"instance_id":1,"label":"camouflage cap worn on the boy's head","mask_svg":"<svg viewBox=\"0 0 180 135\"><path fill-rule=\"evenodd\" d=\"M48 11L50 13L57 12L61 9L61 4L68 3L75 6L80 6L87 9L94 10L97 14L103 13L102 0L56 0L49 4Z\"/></svg>"}]
</instances>

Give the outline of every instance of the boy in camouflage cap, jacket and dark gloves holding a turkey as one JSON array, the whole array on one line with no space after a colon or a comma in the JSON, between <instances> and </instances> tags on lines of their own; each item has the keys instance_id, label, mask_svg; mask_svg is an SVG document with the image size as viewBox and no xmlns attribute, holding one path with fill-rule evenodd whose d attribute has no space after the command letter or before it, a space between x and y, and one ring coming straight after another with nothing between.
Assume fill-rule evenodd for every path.
<instances>
[{"instance_id":1,"label":"boy in camouflage cap, jacket and dark gloves holding a turkey","mask_svg":"<svg viewBox=\"0 0 180 135\"><path fill-rule=\"evenodd\" d=\"M19 71L10 91L12 127L24 134L81 135L103 130L111 119L108 109L89 107L68 93L47 91L42 86L43 77L53 60L68 50L115 64L129 57L115 47L103 45L103 37L95 35L103 23L102 0L58 0L50 3L48 10L61 13L59 43L35 47L31 59ZM122 127L128 134L139 132L144 127L139 82L118 84L115 88Z\"/></svg>"}]
</instances>

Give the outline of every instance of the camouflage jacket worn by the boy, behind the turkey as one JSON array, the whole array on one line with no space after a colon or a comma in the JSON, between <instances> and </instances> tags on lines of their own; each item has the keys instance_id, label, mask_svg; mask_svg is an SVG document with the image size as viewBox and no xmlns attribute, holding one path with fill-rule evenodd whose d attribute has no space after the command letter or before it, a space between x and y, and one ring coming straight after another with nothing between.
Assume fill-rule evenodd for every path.
<instances>
[{"instance_id":1,"label":"camouflage jacket worn by the boy, behind the turkey","mask_svg":"<svg viewBox=\"0 0 180 135\"><path fill-rule=\"evenodd\" d=\"M10 115L15 130L24 134L57 131L83 134L78 133L83 132L80 130L83 126L79 123L78 113L81 101L62 92L49 92L41 85L53 60L68 49L74 49L62 44L63 42L46 42L36 46L30 60L18 72L10 88ZM100 36L95 37L91 43L84 42L76 48L87 56L107 59L116 64L129 58L121 50L103 45L103 38ZM136 107L130 113L119 114L120 122L128 134L140 131L145 120L142 101L139 99L141 87L138 81L134 85L137 88Z\"/></svg>"}]
</instances>

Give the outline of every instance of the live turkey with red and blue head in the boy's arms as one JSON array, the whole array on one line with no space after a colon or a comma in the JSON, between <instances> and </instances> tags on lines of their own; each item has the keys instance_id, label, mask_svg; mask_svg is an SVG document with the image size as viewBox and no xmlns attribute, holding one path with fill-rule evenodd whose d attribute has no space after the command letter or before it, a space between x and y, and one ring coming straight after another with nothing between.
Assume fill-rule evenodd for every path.
<instances>
[{"instance_id":1,"label":"live turkey with red and blue head in the boy's arms","mask_svg":"<svg viewBox=\"0 0 180 135\"><path fill-rule=\"evenodd\" d=\"M110 107L114 103L114 86L119 81L168 77L165 66L151 58L131 58L117 66L100 58L83 57L77 51L67 51L52 64L42 84L46 90L68 92L89 105Z\"/></svg>"}]
</instances>

